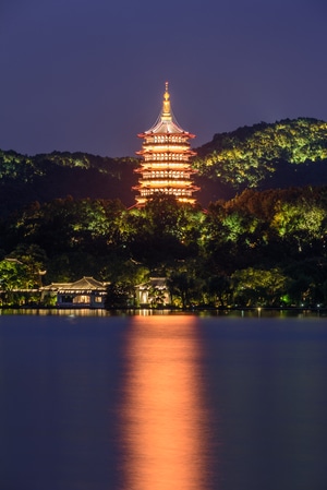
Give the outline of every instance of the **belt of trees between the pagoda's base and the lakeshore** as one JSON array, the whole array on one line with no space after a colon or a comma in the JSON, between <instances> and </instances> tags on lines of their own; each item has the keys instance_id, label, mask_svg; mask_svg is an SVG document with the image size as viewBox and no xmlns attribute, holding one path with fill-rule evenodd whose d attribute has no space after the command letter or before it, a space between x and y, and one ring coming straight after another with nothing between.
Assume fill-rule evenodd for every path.
<instances>
[{"instance_id":1,"label":"belt of trees between the pagoda's base and the lakeshore","mask_svg":"<svg viewBox=\"0 0 327 490\"><path fill-rule=\"evenodd\" d=\"M161 196L143 208L33 203L1 222L2 302L16 301L14 289L85 275L122 299L167 277L180 308L327 306L326 219L327 187L245 190L206 210Z\"/></svg>"}]
</instances>

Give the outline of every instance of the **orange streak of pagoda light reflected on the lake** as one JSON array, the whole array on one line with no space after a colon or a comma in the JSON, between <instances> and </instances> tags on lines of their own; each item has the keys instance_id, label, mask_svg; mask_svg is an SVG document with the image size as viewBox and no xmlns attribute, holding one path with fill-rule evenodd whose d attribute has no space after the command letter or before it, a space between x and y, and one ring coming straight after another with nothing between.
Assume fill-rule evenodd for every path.
<instances>
[{"instance_id":1,"label":"orange streak of pagoda light reflected on the lake","mask_svg":"<svg viewBox=\"0 0 327 490\"><path fill-rule=\"evenodd\" d=\"M135 316L123 408L125 488L204 490L201 356L192 316Z\"/></svg>"}]
</instances>

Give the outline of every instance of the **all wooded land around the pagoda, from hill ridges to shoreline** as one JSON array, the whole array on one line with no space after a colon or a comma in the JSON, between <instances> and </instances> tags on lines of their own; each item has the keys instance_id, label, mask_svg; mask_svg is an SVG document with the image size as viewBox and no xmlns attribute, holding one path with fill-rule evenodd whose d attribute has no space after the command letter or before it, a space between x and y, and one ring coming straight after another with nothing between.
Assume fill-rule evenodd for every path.
<instances>
[{"instance_id":1,"label":"all wooded land around the pagoda, from hill ridges to shoreline","mask_svg":"<svg viewBox=\"0 0 327 490\"><path fill-rule=\"evenodd\" d=\"M327 123L216 134L193 165L198 205L137 208L136 158L0 151L0 304L94 276L123 307L161 276L177 308L327 307Z\"/></svg>"}]
</instances>

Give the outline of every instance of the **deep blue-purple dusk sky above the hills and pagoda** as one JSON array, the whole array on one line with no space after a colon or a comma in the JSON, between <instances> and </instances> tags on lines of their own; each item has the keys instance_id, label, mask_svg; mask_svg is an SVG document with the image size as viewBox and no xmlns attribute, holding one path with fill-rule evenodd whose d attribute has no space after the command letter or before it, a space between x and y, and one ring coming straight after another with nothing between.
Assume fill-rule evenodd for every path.
<instances>
[{"instance_id":1,"label":"deep blue-purple dusk sky above the hills and pagoda","mask_svg":"<svg viewBox=\"0 0 327 490\"><path fill-rule=\"evenodd\" d=\"M0 148L134 155L165 89L193 146L327 120L326 0L1 0Z\"/></svg>"}]
</instances>

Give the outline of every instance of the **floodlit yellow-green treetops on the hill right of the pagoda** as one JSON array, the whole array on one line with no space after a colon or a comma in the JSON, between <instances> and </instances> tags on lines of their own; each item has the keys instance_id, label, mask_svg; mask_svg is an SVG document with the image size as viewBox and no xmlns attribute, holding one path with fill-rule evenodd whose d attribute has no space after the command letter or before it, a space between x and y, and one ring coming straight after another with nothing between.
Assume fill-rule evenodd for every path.
<instances>
[{"instance_id":1,"label":"floodlit yellow-green treetops on the hill right of the pagoda","mask_svg":"<svg viewBox=\"0 0 327 490\"><path fill-rule=\"evenodd\" d=\"M235 189L256 188L274 175L281 162L326 160L327 123L300 118L240 128L216 134L197 153L194 166L201 176L219 179Z\"/></svg>"}]
</instances>

